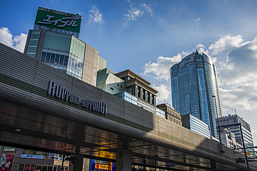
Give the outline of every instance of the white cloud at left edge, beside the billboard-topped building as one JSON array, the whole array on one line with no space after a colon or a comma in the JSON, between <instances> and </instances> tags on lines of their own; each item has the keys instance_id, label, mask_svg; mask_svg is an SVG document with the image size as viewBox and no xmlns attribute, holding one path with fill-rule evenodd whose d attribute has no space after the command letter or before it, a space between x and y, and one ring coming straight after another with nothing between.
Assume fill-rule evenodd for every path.
<instances>
[{"instance_id":1,"label":"white cloud at left edge, beside the billboard-topped building","mask_svg":"<svg viewBox=\"0 0 257 171\"><path fill-rule=\"evenodd\" d=\"M0 42L2 44L6 44L11 48L15 48L17 51L23 53L24 47L26 44L27 35L21 33L20 35L15 35L10 32L8 28L2 27L0 28Z\"/></svg>"}]
</instances>

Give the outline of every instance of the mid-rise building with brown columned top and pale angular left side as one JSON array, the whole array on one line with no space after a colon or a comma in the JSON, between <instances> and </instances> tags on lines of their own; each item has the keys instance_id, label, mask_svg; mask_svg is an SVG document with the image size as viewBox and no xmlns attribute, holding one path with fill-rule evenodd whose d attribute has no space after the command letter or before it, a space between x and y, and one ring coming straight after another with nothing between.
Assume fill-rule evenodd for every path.
<instances>
[{"instance_id":1,"label":"mid-rise building with brown columned top and pale angular left side","mask_svg":"<svg viewBox=\"0 0 257 171\"><path fill-rule=\"evenodd\" d=\"M99 89L165 118L165 111L156 107L158 91L150 87L150 84L129 69L115 73L106 68L97 72L97 87Z\"/></svg>"}]
</instances>

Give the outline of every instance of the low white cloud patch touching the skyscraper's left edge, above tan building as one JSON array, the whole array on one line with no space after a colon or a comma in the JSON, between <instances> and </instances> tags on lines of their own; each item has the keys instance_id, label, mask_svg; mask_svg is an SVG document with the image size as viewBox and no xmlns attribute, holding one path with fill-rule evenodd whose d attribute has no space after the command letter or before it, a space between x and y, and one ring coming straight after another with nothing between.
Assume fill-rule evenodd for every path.
<instances>
[{"instance_id":1,"label":"low white cloud patch touching the skyscraper's left edge, above tan building","mask_svg":"<svg viewBox=\"0 0 257 171\"><path fill-rule=\"evenodd\" d=\"M159 86L153 85L153 88L158 91L157 104L166 103L170 101L171 93L167 85L165 84L160 84Z\"/></svg>"}]
</instances>

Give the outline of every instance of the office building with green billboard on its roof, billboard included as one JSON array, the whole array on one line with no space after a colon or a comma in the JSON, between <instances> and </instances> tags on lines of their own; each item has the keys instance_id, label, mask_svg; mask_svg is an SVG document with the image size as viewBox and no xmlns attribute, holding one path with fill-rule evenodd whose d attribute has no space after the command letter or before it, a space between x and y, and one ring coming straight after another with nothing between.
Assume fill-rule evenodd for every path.
<instances>
[{"instance_id":1,"label":"office building with green billboard on its roof, billboard included","mask_svg":"<svg viewBox=\"0 0 257 171\"><path fill-rule=\"evenodd\" d=\"M24 53L95 86L99 61L103 59L96 49L78 39L81 18L80 15L38 7Z\"/></svg>"}]
</instances>

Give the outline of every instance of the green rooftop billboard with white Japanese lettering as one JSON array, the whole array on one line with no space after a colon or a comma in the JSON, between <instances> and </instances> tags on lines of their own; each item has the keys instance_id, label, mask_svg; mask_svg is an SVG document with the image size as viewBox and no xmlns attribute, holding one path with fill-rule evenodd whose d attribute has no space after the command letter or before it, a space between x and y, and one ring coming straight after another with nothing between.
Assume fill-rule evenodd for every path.
<instances>
[{"instance_id":1,"label":"green rooftop billboard with white Japanese lettering","mask_svg":"<svg viewBox=\"0 0 257 171\"><path fill-rule=\"evenodd\" d=\"M35 17L35 24L79 33L81 16L39 7L37 16Z\"/></svg>"}]
</instances>

